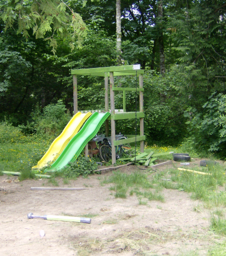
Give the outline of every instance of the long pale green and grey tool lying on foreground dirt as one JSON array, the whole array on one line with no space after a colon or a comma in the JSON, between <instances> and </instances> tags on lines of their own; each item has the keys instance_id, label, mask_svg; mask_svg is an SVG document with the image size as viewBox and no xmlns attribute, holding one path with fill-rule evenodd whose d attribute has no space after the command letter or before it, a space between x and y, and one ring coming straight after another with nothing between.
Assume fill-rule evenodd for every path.
<instances>
[{"instance_id":1,"label":"long pale green and grey tool lying on foreground dirt","mask_svg":"<svg viewBox=\"0 0 226 256\"><path fill-rule=\"evenodd\" d=\"M75 221L75 222L82 222L82 223L91 223L90 218L85 217L71 217L71 216L57 216L57 215L44 215L44 216L37 216L33 215L31 212L28 214L28 219L34 218L41 218L44 220L63 220L63 221Z\"/></svg>"}]
</instances>

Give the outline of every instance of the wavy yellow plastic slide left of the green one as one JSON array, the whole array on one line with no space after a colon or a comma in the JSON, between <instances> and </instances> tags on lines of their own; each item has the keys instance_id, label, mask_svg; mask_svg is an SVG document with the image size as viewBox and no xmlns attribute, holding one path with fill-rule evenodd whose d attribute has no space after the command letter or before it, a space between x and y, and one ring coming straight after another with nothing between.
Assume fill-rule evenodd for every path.
<instances>
[{"instance_id":1,"label":"wavy yellow plastic slide left of the green one","mask_svg":"<svg viewBox=\"0 0 226 256\"><path fill-rule=\"evenodd\" d=\"M83 123L92 115L91 112L82 114L78 112L71 118L68 122L67 126L64 128L62 133L54 140L51 144L49 150L42 156L42 159L38 161L38 164L32 169L41 169L47 165L50 161L55 161L60 153L67 146L69 140L75 136L75 134L79 131Z\"/></svg>"}]
</instances>

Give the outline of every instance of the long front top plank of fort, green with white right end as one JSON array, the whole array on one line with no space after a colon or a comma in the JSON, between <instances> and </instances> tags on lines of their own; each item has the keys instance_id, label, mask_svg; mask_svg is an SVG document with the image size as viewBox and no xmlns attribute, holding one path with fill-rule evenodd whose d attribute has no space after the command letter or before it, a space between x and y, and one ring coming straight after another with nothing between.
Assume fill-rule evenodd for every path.
<instances>
[{"instance_id":1,"label":"long front top plank of fort, green with white right end","mask_svg":"<svg viewBox=\"0 0 226 256\"><path fill-rule=\"evenodd\" d=\"M86 74L98 74L103 72L128 72L129 70L140 70L140 65L125 65L125 66L112 66L112 67L95 67L93 69L74 69L71 71L72 75L86 75Z\"/></svg>"}]
</instances>

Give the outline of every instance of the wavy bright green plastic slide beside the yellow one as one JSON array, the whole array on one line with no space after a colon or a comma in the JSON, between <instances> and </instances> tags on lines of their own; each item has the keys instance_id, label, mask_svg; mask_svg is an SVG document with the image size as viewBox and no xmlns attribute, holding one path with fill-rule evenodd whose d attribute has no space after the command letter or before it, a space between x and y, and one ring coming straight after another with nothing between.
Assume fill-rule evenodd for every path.
<instances>
[{"instance_id":1,"label":"wavy bright green plastic slide beside the yellow one","mask_svg":"<svg viewBox=\"0 0 226 256\"><path fill-rule=\"evenodd\" d=\"M45 172L54 172L65 167L68 162L73 162L76 157L80 155L85 145L89 140L98 133L103 122L110 116L109 112L106 113L93 113L92 116L85 122L79 133L77 133L69 141L63 152L59 155L58 159L51 165L50 168L45 169Z\"/></svg>"}]
</instances>

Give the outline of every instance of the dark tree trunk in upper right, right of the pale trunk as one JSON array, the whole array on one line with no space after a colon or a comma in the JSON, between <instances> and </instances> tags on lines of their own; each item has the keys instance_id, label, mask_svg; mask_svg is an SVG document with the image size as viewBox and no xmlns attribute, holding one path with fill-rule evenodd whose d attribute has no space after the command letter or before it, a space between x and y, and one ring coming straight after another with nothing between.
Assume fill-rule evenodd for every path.
<instances>
[{"instance_id":1,"label":"dark tree trunk in upper right, right of the pale trunk","mask_svg":"<svg viewBox=\"0 0 226 256\"><path fill-rule=\"evenodd\" d=\"M160 74L165 74L165 56L163 43L163 1L158 0L158 22L159 22L159 69Z\"/></svg>"}]
</instances>

